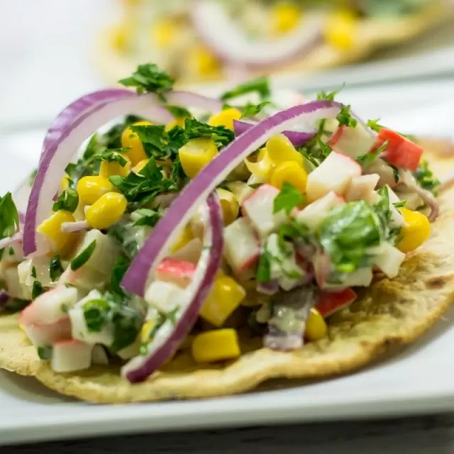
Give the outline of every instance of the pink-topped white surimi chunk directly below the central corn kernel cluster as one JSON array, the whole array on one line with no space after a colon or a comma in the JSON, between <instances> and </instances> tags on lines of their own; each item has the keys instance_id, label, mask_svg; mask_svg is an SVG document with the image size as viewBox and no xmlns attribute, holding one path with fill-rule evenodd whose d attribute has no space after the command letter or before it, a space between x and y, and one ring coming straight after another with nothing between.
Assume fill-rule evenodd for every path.
<instances>
[{"instance_id":1,"label":"pink-topped white surimi chunk directly below the central corn kernel cluster","mask_svg":"<svg viewBox=\"0 0 454 454\"><path fill-rule=\"evenodd\" d=\"M287 220L287 214L284 211L273 214L275 198L278 194L279 189L270 184L263 184L243 201L243 215L248 217L260 238L267 238Z\"/></svg>"}]
</instances>

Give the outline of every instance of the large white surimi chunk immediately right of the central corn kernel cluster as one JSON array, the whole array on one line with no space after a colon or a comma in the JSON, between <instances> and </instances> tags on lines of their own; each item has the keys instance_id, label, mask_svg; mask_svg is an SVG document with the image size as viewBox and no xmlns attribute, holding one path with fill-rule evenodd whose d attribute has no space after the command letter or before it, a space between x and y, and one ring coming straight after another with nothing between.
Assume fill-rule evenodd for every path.
<instances>
[{"instance_id":1,"label":"large white surimi chunk immediately right of the central corn kernel cluster","mask_svg":"<svg viewBox=\"0 0 454 454\"><path fill-rule=\"evenodd\" d=\"M320 199L328 192L344 194L353 177L361 175L361 166L350 157L331 152L307 177L307 198Z\"/></svg>"}]
</instances>

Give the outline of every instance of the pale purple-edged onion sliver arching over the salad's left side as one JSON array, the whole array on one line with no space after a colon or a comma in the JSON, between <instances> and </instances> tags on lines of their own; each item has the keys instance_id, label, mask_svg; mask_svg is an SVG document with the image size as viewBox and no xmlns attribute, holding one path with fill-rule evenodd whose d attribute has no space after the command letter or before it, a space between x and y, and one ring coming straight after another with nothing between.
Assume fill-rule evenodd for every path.
<instances>
[{"instance_id":1,"label":"pale purple-edged onion sliver arching over the salad's left side","mask_svg":"<svg viewBox=\"0 0 454 454\"><path fill-rule=\"evenodd\" d=\"M60 138L50 145L42 157L28 198L23 234L24 255L48 252L48 245L37 234L36 228L50 214L52 197L57 193L65 168L72 161L80 144L114 118L150 109L158 103L159 100L153 93L138 96L124 90L116 101L97 104L92 110L77 117L65 128Z\"/></svg>"}]
</instances>

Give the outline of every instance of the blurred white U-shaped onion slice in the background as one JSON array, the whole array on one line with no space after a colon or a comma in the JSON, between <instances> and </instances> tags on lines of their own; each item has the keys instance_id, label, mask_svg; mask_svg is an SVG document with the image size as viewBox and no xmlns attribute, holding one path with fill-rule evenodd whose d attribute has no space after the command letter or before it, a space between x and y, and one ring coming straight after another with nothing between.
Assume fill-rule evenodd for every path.
<instances>
[{"instance_id":1,"label":"blurred white U-shaped onion slice in the background","mask_svg":"<svg viewBox=\"0 0 454 454\"><path fill-rule=\"evenodd\" d=\"M190 11L196 33L216 55L250 67L276 65L312 50L323 39L323 15L308 14L293 33L275 40L251 41L216 1L196 1Z\"/></svg>"}]
</instances>

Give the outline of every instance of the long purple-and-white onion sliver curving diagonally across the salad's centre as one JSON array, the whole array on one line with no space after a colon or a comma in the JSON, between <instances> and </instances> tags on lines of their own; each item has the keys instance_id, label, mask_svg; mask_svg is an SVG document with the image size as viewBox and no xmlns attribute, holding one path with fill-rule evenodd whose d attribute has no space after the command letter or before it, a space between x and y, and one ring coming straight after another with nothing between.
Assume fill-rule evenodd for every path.
<instances>
[{"instance_id":1,"label":"long purple-and-white onion sliver curving diagonally across the salad's centre","mask_svg":"<svg viewBox=\"0 0 454 454\"><path fill-rule=\"evenodd\" d=\"M179 197L170 205L167 214L160 219L153 233L135 256L125 277L123 287L128 292L143 297L149 270L153 276L154 267L160 263L165 253L177 240L177 236L197 208L211 192L223 182L245 157L257 150L272 135L285 131L298 123L314 123L323 118L336 118L343 104L336 101L312 101L301 106L278 112L241 134L216 155L199 174L185 187ZM311 131L310 131L311 132Z\"/></svg>"}]
</instances>

